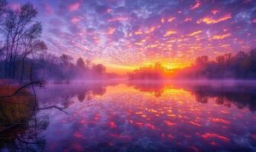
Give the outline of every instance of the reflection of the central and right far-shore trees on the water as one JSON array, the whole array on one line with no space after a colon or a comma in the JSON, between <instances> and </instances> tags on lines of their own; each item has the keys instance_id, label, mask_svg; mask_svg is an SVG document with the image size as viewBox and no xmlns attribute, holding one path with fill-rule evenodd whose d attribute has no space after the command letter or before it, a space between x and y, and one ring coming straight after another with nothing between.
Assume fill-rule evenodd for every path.
<instances>
[{"instance_id":1,"label":"reflection of the central and right far-shore trees on the water","mask_svg":"<svg viewBox=\"0 0 256 152\"><path fill-rule=\"evenodd\" d=\"M153 93L155 97L161 97L171 89L182 89L194 94L198 103L208 103L210 98L214 98L219 105L230 107L232 104L239 109L248 108L251 112L256 110L256 84L247 83L226 83L216 81L214 84L199 83L175 83L173 81L159 81L157 83L150 81L130 81L128 86L134 87L142 92Z\"/></svg>"}]
</instances>

